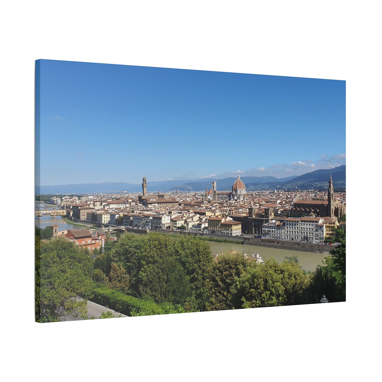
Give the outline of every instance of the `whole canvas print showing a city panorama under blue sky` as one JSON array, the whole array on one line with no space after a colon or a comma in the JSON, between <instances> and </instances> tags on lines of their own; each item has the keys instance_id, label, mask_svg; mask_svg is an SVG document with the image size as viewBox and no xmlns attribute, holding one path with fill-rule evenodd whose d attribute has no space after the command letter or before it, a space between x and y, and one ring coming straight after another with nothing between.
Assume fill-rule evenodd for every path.
<instances>
[{"instance_id":1,"label":"whole canvas print showing a city panorama under blue sky","mask_svg":"<svg viewBox=\"0 0 382 382\"><path fill-rule=\"evenodd\" d=\"M345 81L37 60L35 147L37 322L346 300Z\"/></svg>"}]
</instances>

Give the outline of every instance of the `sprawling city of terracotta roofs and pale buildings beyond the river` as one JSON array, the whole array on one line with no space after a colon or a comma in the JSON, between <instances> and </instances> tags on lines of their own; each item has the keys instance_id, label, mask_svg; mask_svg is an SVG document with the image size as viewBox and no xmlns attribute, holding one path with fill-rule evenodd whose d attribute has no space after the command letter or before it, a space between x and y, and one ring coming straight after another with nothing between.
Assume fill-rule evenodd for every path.
<instances>
[{"instance_id":1,"label":"sprawling city of terracotta roofs and pale buildings beyond the river","mask_svg":"<svg viewBox=\"0 0 382 382\"><path fill-rule=\"evenodd\" d=\"M217 191L217 181L204 193L105 194L51 197L60 209L36 210L36 217L65 216L100 227L167 230L222 236L248 236L323 244L335 241L335 230L346 222L346 193L334 192L330 175L327 191L248 192L238 175L231 191ZM293 227L293 228L292 228ZM57 235L66 235L58 230ZM87 245L86 245L87 247ZM92 248L94 246L91 246Z\"/></svg>"}]
</instances>

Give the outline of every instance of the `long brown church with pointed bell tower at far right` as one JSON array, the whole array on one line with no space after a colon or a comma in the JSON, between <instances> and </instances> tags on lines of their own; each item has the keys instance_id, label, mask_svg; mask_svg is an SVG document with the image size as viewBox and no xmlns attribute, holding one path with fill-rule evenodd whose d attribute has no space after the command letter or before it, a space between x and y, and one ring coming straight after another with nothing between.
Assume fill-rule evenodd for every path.
<instances>
[{"instance_id":1,"label":"long brown church with pointed bell tower at far right","mask_svg":"<svg viewBox=\"0 0 382 382\"><path fill-rule=\"evenodd\" d=\"M335 217L337 220L346 213L346 206L334 199L333 181L330 174L327 200L295 200L290 208L290 217L317 216Z\"/></svg>"}]
</instances>

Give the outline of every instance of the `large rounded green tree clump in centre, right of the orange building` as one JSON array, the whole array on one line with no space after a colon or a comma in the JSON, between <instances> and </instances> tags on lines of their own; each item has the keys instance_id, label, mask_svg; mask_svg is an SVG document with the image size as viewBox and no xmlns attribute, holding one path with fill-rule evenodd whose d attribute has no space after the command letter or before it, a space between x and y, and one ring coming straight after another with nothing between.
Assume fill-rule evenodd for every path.
<instances>
[{"instance_id":1,"label":"large rounded green tree clump in centre, right of the orange building","mask_svg":"<svg viewBox=\"0 0 382 382\"><path fill-rule=\"evenodd\" d=\"M117 241L111 257L129 274L135 296L205 309L213 263L208 243L194 236L128 233Z\"/></svg>"}]
</instances>

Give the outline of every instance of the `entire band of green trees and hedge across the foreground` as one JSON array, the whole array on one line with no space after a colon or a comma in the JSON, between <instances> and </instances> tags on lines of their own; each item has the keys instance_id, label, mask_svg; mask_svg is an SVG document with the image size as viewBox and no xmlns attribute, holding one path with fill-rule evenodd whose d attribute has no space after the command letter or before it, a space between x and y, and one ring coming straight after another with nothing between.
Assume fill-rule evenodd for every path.
<instances>
[{"instance_id":1,"label":"entire band of green trees and hedge across the foreground","mask_svg":"<svg viewBox=\"0 0 382 382\"><path fill-rule=\"evenodd\" d=\"M197 236L127 233L89 252L63 238L41 241L36 228L36 320L86 316L86 299L128 316L345 301L346 231L314 272L298 257L257 263L230 251L214 259ZM91 270L94 268L91 281Z\"/></svg>"}]
</instances>

